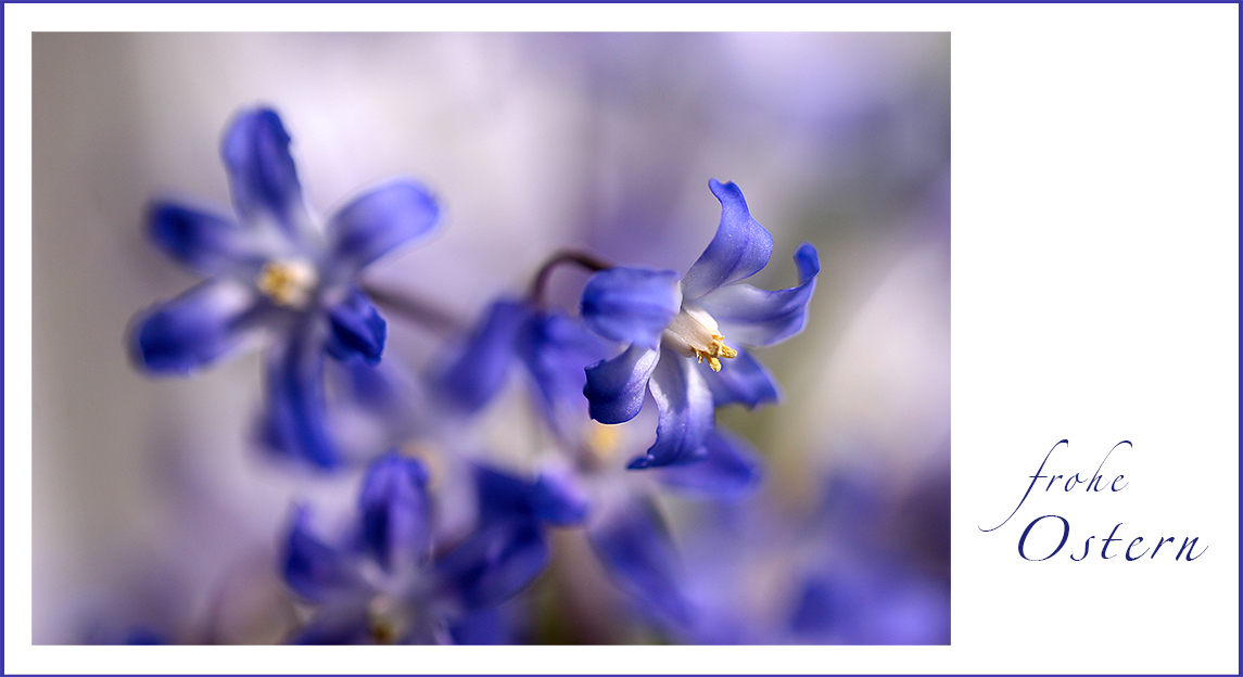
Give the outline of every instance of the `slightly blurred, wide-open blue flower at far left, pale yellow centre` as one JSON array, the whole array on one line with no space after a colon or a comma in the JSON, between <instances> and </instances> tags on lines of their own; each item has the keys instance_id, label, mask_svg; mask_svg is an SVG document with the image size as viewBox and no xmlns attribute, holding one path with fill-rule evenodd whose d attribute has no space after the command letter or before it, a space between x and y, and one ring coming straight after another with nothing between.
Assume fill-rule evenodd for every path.
<instances>
[{"instance_id":1,"label":"slightly blurred, wide-open blue flower at far left, pale yellow centre","mask_svg":"<svg viewBox=\"0 0 1243 677\"><path fill-rule=\"evenodd\" d=\"M395 179L338 209L321 230L288 147L273 111L244 111L220 149L236 220L172 202L150 207L154 243L208 279L139 313L132 352L148 371L191 374L270 334L264 441L333 467L343 453L326 420L324 355L352 371L379 363L387 324L358 276L426 239L440 207L423 185Z\"/></svg>"}]
</instances>

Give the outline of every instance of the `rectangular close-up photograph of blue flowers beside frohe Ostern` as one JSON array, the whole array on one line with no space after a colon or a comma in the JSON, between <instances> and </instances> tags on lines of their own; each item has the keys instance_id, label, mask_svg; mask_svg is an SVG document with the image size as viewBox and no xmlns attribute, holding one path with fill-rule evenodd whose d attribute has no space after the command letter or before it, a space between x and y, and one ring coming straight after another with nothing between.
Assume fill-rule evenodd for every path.
<instances>
[{"instance_id":1,"label":"rectangular close-up photograph of blue flowers beside frohe Ostern","mask_svg":"<svg viewBox=\"0 0 1243 677\"><path fill-rule=\"evenodd\" d=\"M951 643L950 32L30 45L34 645Z\"/></svg>"}]
</instances>

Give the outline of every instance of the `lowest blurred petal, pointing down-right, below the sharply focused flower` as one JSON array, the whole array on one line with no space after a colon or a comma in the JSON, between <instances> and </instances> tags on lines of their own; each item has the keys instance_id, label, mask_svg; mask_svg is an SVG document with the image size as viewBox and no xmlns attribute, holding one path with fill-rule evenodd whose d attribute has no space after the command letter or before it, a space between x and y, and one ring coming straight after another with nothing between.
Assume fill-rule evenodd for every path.
<instances>
[{"instance_id":1,"label":"lowest blurred petal, pointing down-right, below the sharply focused flower","mask_svg":"<svg viewBox=\"0 0 1243 677\"><path fill-rule=\"evenodd\" d=\"M677 583L677 552L650 501L634 501L618 509L587 535L619 588L666 617L690 620Z\"/></svg>"}]
</instances>

